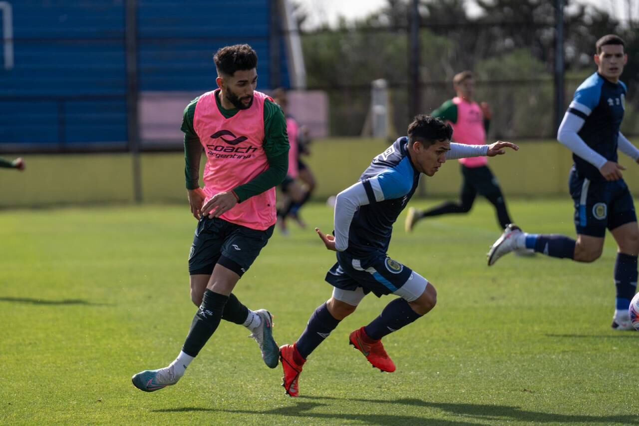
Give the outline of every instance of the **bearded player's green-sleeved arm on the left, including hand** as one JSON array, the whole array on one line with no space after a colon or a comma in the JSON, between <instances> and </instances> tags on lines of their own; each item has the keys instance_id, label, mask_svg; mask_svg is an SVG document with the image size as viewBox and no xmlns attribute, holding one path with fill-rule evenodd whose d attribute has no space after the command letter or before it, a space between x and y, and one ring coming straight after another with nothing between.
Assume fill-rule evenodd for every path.
<instances>
[{"instance_id":1,"label":"bearded player's green-sleeved arm on the left, including hand","mask_svg":"<svg viewBox=\"0 0 639 426\"><path fill-rule=\"evenodd\" d=\"M206 194L199 187L199 165L202 157L203 146L199 136L193 127L193 118L196 113L196 105L199 97L189 102L184 109L180 130L184 132L184 177L186 180L187 197L191 214L196 219L200 218L200 210L206 198Z\"/></svg>"}]
</instances>

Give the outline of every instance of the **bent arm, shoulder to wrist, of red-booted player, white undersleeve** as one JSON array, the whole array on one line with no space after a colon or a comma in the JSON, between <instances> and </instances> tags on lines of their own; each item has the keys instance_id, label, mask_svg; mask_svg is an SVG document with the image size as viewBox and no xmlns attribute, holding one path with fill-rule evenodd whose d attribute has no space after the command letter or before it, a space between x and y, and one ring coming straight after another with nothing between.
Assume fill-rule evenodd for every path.
<instances>
[{"instance_id":1,"label":"bent arm, shoulder to wrist, of red-booted player, white undersleeve","mask_svg":"<svg viewBox=\"0 0 639 426\"><path fill-rule=\"evenodd\" d=\"M335 249L344 251L348 248L351 221L361 205L401 198L408 194L412 185L412 171L389 169L376 177L361 180L337 194L334 223Z\"/></svg>"}]
</instances>

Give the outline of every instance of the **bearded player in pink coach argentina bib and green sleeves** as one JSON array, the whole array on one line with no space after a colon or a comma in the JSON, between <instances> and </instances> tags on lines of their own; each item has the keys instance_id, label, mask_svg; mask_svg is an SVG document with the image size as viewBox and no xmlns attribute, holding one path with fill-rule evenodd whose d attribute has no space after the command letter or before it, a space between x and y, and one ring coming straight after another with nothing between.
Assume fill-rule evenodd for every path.
<instances>
[{"instance_id":1,"label":"bearded player in pink coach argentina bib and green sleeves","mask_svg":"<svg viewBox=\"0 0 639 426\"><path fill-rule=\"evenodd\" d=\"M288 170L286 120L270 97L255 90L258 56L249 45L223 47L213 59L219 88L192 100L181 126L190 209L198 219L189 274L199 309L173 363L132 377L146 392L176 384L222 319L250 330L268 367L279 361L271 314L249 310L232 292L273 234L275 187Z\"/></svg>"}]
</instances>

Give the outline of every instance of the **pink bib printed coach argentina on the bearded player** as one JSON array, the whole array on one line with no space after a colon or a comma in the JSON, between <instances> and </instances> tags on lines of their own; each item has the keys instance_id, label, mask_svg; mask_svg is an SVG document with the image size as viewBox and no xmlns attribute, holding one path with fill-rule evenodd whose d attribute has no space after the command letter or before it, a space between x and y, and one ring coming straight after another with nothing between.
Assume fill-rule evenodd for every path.
<instances>
[{"instance_id":1,"label":"pink bib printed coach argentina on the bearded player","mask_svg":"<svg viewBox=\"0 0 639 426\"><path fill-rule=\"evenodd\" d=\"M219 91L209 91L200 97L193 118L194 130L206 152L204 203L215 194L250 182L268 169L263 148L264 102L270 98L254 91L249 109L240 109L231 118L225 118L215 102ZM277 221L275 188L236 204L220 218L255 230L269 228Z\"/></svg>"}]
</instances>

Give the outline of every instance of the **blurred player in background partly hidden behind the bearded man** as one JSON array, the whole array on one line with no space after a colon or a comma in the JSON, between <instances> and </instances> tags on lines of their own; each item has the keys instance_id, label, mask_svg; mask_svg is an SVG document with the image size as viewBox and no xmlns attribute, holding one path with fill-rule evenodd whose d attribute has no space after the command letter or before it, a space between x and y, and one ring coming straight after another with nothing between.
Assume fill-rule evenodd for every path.
<instances>
[{"instance_id":1,"label":"blurred player in background partly hidden behind the bearded man","mask_svg":"<svg viewBox=\"0 0 639 426\"><path fill-rule=\"evenodd\" d=\"M307 166L300 160L302 150L305 149L305 146L302 146L300 141L305 139L302 133L305 132L306 129L300 126L297 120L288 113L288 97L283 88L273 90L272 97L282 108L282 111L284 111L284 116L286 116L286 133L288 134L288 141L291 147L288 151L288 173L286 178L284 178L284 182L280 185L283 199L281 201L281 207L277 210L279 228L282 233L286 234L288 233L288 226L286 224L288 217L294 219L302 228L306 226L300 217L299 210L311 197L311 191L315 186L315 182ZM302 180L302 182L298 180L298 178L302 178L302 173L300 173L302 170L300 169L304 170L305 177L311 177L312 186L308 184L304 185L303 182L306 182L306 180Z\"/></svg>"}]
</instances>

